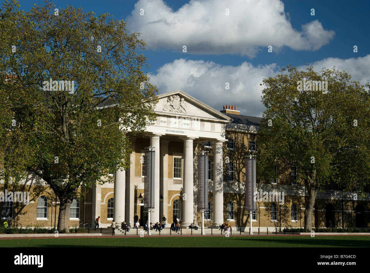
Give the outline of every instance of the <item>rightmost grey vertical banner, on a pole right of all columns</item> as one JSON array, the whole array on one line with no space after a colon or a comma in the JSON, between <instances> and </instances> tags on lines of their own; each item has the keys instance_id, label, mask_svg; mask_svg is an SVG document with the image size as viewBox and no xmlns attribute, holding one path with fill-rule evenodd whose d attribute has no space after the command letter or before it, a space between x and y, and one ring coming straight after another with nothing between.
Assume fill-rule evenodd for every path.
<instances>
[{"instance_id":1,"label":"rightmost grey vertical banner, on a pole right of all columns","mask_svg":"<svg viewBox=\"0 0 370 273\"><path fill-rule=\"evenodd\" d=\"M256 159L245 158L245 210L257 210L254 192L256 191Z\"/></svg>"}]
</instances>

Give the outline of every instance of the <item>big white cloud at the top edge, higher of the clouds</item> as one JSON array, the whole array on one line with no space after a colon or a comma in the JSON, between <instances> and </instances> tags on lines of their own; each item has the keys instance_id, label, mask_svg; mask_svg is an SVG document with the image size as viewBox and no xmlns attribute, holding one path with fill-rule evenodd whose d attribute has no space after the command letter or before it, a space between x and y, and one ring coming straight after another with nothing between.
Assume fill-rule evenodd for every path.
<instances>
[{"instance_id":1,"label":"big white cloud at the top edge, higher of the clouds","mask_svg":"<svg viewBox=\"0 0 370 273\"><path fill-rule=\"evenodd\" d=\"M144 16L140 16L144 9ZM225 15L229 9L230 15ZM309 14L309 11L307 11ZM130 32L140 32L148 48L197 54L240 54L283 46L317 50L334 37L318 20L292 28L279 0L191 0L173 11L162 0L139 0L126 18Z\"/></svg>"}]
</instances>

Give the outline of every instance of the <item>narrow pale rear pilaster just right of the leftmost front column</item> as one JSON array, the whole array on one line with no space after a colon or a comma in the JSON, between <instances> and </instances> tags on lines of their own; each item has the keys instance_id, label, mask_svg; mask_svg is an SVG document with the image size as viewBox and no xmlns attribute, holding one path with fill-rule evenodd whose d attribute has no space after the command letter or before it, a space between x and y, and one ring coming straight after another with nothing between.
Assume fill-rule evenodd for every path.
<instances>
[{"instance_id":1,"label":"narrow pale rear pilaster just right of the leftmost front column","mask_svg":"<svg viewBox=\"0 0 370 273\"><path fill-rule=\"evenodd\" d=\"M132 226L134 224L134 206L136 205L134 191L135 191L135 142L136 137L129 137L131 145L130 148L132 149L132 153L130 155L131 165L130 168L127 169L127 182L126 182L126 213L125 213L125 221L127 226Z\"/></svg>"}]
</instances>

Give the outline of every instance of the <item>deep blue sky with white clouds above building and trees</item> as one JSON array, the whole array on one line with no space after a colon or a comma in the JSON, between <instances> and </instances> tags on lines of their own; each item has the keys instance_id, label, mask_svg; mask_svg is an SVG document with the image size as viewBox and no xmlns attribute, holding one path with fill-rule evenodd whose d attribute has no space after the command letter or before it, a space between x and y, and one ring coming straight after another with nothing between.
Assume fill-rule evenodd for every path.
<instances>
[{"instance_id":1,"label":"deep blue sky with white clouds above building and trees","mask_svg":"<svg viewBox=\"0 0 370 273\"><path fill-rule=\"evenodd\" d=\"M43 0L20 0L30 10ZM125 20L147 43L147 71L159 93L182 90L216 110L261 116L263 78L286 65L346 70L370 81L370 1L55 0ZM144 16L140 16L144 9ZM229 9L229 15L226 15ZM314 9L314 16L311 15ZM182 52L186 45L187 52ZM272 53L268 46L272 46ZM357 46L357 53L353 52ZM230 90L225 90L229 82Z\"/></svg>"}]
</instances>

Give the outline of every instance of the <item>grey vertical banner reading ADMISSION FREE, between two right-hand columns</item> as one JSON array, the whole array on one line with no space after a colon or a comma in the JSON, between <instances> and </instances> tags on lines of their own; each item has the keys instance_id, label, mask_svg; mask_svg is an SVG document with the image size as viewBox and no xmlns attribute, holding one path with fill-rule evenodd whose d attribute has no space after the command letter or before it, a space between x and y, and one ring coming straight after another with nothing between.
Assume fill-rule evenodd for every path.
<instances>
[{"instance_id":1,"label":"grey vertical banner reading ADMISSION FREE, between two right-hand columns","mask_svg":"<svg viewBox=\"0 0 370 273\"><path fill-rule=\"evenodd\" d=\"M198 209L208 209L208 155L198 155Z\"/></svg>"}]
</instances>

